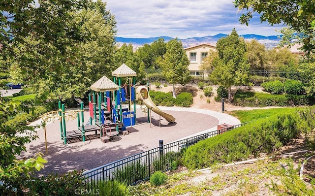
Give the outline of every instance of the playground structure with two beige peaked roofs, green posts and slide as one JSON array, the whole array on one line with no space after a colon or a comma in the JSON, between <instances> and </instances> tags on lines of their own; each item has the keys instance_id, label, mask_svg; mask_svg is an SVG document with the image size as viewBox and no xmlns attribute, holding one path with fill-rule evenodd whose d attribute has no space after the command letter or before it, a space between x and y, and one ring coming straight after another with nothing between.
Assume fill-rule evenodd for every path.
<instances>
[{"instance_id":1,"label":"playground structure with two beige peaked roofs, green posts and slide","mask_svg":"<svg viewBox=\"0 0 315 196\"><path fill-rule=\"evenodd\" d=\"M60 120L60 133L64 144L67 144L68 139L78 137L82 137L82 141L86 141L85 133L90 131L95 131L95 134L99 131L103 143L120 133L128 134L126 127L132 127L136 124L137 100L142 101L147 107L148 123L151 122L150 110L164 117L170 123L175 122L172 115L158 109L150 98L147 87L139 86L137 89L135 88L136 75L135 71L123 64L112 72L114 82L103 76L91 85L92 94L89 94L90 119L86 125L84 124L83 102L80 103L80 110L65 111L64 104L59 101L59 110L45 113L42 119L44 122ZM122 84L123 82L125 83ZM128 105L123 105L126 102L128 102ZM133 102L133 108L131 102ZM78 119L78 130L66 131L66 121L75 118ZM45 127L44 130L46 139Z\"/></svg>"}]
</instances>

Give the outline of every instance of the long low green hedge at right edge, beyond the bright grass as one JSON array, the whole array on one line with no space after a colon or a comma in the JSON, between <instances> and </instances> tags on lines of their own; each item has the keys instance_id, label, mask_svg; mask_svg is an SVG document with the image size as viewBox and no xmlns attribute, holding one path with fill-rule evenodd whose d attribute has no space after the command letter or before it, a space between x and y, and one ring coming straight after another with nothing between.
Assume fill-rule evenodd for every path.
<instances>
[{"instance_id":1,"label":"long low green hedge at right edge, beyond the bright grass","mask_svg":"<svg viewBox=\"0 0 315 196\"><path fill-rule=\"evenodd\" d=\"M234 105L249 107L266 106L298 106L314 105L315 98L311 96L271 95L267 93L252 93L237 91L234 94Z\"/></svg>"}]
</instances>

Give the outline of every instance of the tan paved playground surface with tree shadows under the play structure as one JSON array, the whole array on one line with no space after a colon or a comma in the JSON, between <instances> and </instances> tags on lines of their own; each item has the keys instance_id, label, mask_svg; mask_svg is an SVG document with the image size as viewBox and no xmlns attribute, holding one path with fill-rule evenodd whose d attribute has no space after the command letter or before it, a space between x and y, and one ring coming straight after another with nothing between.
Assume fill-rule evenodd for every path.
<instances>
[{"instance_id":1,"label":"tan paved playground surface with tree shadows under the play structure","mask_svg":"<svg viewBox=\"0 0 315 196\"><path fill-rule=\"evenodd\" d=\"M95 135L95 132L91 131L86 134L87 141L83 142L80 138L73 138L69 144L64 145L60 137L59 121L47 125L48 155L45 156L45 159L48 163L45 164L45 169L39 171L38 174L64 173L74 169L88 170L157 147L159 140L164 140L164 144L166 144L200 131L216 129L218 124L240 124L234 117L219 112L215 115L211 114L211 116L206 114L209 112L207 110L198 109L195 112L193 108L170 107L167 108L167 112L176 117L176 122L168 123L161 118L161 127L159 127L159 116L152 113L153 119L150 127L150 123L147 123L147 114L142 113L140 109L136 111L137 125L132 128L127 127L127 131L130 133L115 136L106 143L102 143L99 134ZM219 120L213 116L218 116ZM85 112L85 117L87 118L85 122L87 122L88 112ZM66 129L75 133L77 131L76 120L67 122ZM38 135L37 140L27 145L28 152L22 154L21 158L33 157L38 152L45 154L44 131L39 130Z\"/></svg>"}]
</instances>

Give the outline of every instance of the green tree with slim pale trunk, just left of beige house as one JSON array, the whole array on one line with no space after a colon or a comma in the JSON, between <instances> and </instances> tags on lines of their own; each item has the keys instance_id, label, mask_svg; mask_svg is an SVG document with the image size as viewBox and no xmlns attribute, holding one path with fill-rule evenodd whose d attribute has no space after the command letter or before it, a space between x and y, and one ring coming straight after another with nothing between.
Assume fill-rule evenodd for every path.
<instances>
[{"instance_id":1,"label":"green tree with slim pale trunk, just left of beige house","mask_svg":"<svg viewBox=\"0 0 315 196\"><path fill-rule=\"evenodd\" d=\"M186 84L190 80L189 59L184 51L183 44L177 38L166 44L166 53L158 59L168 82L173 85L173 97L176 98L175 84Z\"/></svg>"}]
</instances>

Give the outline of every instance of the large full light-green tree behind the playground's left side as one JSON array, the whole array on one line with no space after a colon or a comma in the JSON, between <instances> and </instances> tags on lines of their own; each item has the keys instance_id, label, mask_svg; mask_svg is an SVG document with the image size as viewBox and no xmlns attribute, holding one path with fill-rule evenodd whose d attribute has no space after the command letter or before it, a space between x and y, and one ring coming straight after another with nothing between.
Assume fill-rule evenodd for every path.
<instances>
[{"instance_id":1,"label":"large full light-green tree behind the playground's left side","mask_svg":"<svg viewBox=\"0 0 315 196\"><path fill-rule=\"evenodd\" d=\"M51 42L37 37L36 32L25 37L13 50L13 79L30 84L33 91L44 98L84 97L89 87L108 74L113 64L116 21L105 6L100 0L91 2L90 8L68 13L71 20L64 21L80 24L79 34L89 34L89 39L73 40L66 36L67 32Z\"/></svg>"}]
</instances>

